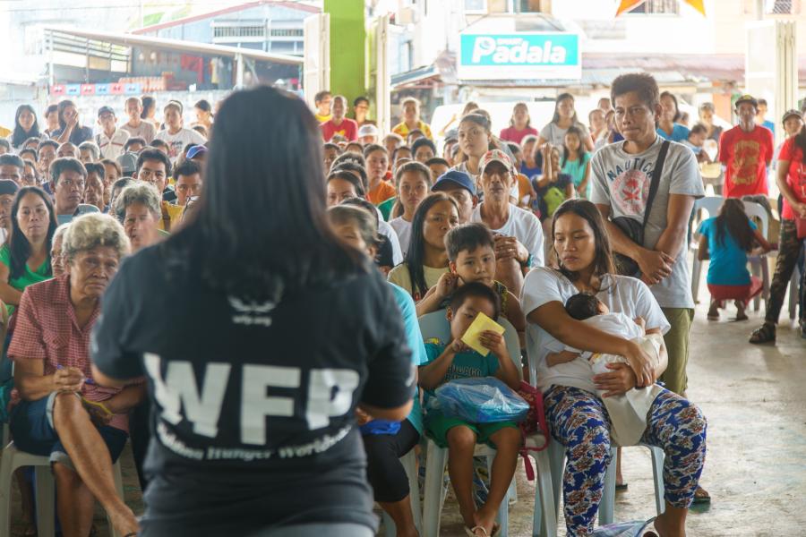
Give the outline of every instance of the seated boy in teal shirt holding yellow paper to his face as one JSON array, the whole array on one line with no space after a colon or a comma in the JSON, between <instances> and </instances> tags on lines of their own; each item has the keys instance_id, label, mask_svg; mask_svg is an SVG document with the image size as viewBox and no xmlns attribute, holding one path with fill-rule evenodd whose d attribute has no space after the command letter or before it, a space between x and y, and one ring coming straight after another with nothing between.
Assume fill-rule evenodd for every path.
<instances>
[{"instance_id":1,"label":"seated boy in teal shirt holding yellow paper to his face","mask_svg":"<svg viewBox=\"0 0 806 537\"><path fill-rule=\"evenodd\" d=\"M504 337L492 331L482 334L481 344L490 350L486 356L462 343L461 337L476 320L479 312L498 319L501 311L499 295L483 283L473 282L459 287L448 308L450 345L428 343L427 356L419 368L419 384L425 390L426 408L433 390L451 379L496 377L512 389L520 386L515 362L507 351ZM521 435L515 422L469 423L448 417L435 409L425 415L425 429L440 447L448 447L448 473L459 502L459 512L470 535L493 535L495 515L510 487L518 460ZM476 442L496 449L490 492L482 507L476 509L473 499L473 451Z\"/></svg>"}]
</instances>

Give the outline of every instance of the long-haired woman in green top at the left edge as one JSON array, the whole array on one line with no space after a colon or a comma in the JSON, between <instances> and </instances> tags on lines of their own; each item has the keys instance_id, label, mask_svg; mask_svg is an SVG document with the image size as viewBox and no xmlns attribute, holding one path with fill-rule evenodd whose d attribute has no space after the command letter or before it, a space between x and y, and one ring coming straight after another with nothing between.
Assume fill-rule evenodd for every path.
<instances>
[{"instance_id":1,"label":"long-haired woman in green top at the left edge","mask_svg":"<svg viewBox=\"0 0 806 537\"><path fill-rule=\"evenodd\" d=\"M17 192L11 210L11 235L0 247L0 300L13 313L22 291L52 277L50 243L56 213L47 194L36 186Z\"/></svg>"}]
</instances>

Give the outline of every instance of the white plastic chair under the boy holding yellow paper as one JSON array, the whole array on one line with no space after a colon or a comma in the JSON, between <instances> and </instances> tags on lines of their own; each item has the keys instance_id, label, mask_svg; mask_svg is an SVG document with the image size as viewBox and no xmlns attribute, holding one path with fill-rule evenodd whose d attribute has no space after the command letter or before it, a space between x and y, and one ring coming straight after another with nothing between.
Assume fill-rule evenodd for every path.
<instances>
[{"instance_id":1,"label":"white plastic chair under the boy holding yellow paper","mask_svg":"<svg viewBox=\"0 0 806 537\"><path fill-rule=\"evenodd\" d=\"M446 311L434 311L420 317L420 332L424 341L438 339L442 343L450 343L450 323L446 318ZM520 342L518 332L508 320L500 318L498 323L505 328L504 339L512 361L520 371ZM425 456L425 494L423 499L423 532L424 537L437 537L440 534L440 513L445 501L445 490L442 487L442 475L448 462L448 449L437 446L433 440L426 440ZM476 445L474 456L484 456L487 459L487 470L492 474L493 457L495 450L492 447ZM501 524L501 535L509 534L509 507L510 494L515 489L515 480L510 484L510 490L501 502L498 509L498 524Z\"/></svg>"}]
</instances>

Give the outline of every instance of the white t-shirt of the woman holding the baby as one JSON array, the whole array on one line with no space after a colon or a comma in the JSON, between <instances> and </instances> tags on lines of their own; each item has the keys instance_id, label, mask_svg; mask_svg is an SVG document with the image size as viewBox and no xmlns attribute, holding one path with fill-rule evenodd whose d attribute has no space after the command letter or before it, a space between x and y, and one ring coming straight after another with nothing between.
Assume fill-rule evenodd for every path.
<instances>
[{"instance_id":1,"label":"white t-shirt of the woman holding the baby","mask_svg":"<svg viewBox=\"0 0 806 537\"><path fill-rule=\"evenodd\" d=\"M520 304L524 315L528 317L529 313L546 303L559 302L564 307L568 299L578 293L579 289L559 271L553 268L536 268L523 281ZM602 291L596 294L596 298L610 311L626 315L630 322L637 317L644 318L647 330L659 328L665 334L671 328L649 287L639 279L605 275L602 278ZM563 350L564 343L536 324L527 323L527 351L529 362L534 361L537 366L537 387L545 391L556 384L596 393L596 386L591 380L590 364L585 358L579 356L571 362L559 363L553 367L546 365L546 354L560 353Z\"/></svg>"}]
</instances>

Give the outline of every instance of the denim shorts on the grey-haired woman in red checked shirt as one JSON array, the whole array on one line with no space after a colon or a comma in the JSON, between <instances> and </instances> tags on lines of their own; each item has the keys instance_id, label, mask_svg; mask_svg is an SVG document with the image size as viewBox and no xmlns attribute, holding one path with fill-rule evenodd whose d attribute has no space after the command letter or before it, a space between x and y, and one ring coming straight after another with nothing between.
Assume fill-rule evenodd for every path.
<instances>
[{"instance_id":1,"label":"denim shorts on the grey-haired woman in red checked shirt","mask_svg":"<svg viewBox=\"0 0 806 537\"><path fill-rule=\"evenodd\" d=\"M50 462L75 470L70 456L53 426L53 405L56 392L37 401L21 401L11 412L10 429L17 449L32 455L50 456ZM77 396L77 395L76 395ZM98 430L107 445L114 464L123 452L129 435L124 430L105 425Z\"/></svg>"}]
</instances>

